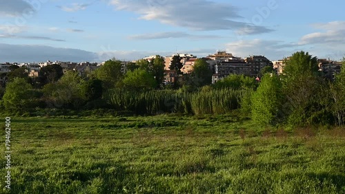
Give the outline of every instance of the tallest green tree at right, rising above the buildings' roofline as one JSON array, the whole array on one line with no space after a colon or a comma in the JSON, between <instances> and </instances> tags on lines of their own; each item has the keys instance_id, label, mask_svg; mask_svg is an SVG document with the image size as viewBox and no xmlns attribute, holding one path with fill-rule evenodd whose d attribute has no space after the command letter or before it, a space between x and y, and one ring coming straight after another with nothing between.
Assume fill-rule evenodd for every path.
<instances>
[{"instance_id":1,"label":"tallest green tree at right, rising above the buildings' roofline","mask_svg":"<svg viewBox=\"0 0 345 194\"><path fill-rule=\"evenodd\" d=\"M315 94L320 93L317 58L308 52L296 52L286 61L282 76L286 96L286 114L290 125L308 125L316 112L323 111Z\"/></svg>"}]
</instances>

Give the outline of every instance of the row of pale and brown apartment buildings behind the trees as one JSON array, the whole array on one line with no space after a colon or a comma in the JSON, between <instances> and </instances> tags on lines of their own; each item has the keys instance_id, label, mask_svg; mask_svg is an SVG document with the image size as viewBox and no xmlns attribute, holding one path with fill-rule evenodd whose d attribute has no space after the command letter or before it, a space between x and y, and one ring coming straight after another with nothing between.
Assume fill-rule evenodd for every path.
<instances>
[{"instance_id":1,"label":"row of pale and brown apartment buildings behind the trees","mask_svg":"<svg viewBox=\"0 0 345 194\"><path fill-rule=\"evenodd\" d=\"M164 70L165 70L165 80L164 83L173 83L175 82L175 78L177 77L177 73L173 70L170 70L170 63L172 61L173 56L179 55L181 57L181 63L183 67L181 72L183 74L190 74L193 72L195 61L197 61L197 56L193 54L174 54L172 56L166 56L161 58L164 59ZM152 61L153 58L157 56L148 56L144 58L147 61ZM210 71L213 72L213 83L216 83L218 80L225 78L230 74L243 74L246 76L257 77L259 75L260 70L263 67L270 66L273 67L276 73L283 74L284 67L286 65L286 61L289 58L284 58L279 61L270 61L265 56L248 56L246 58L240 58L233 56L233 54L227 53L225 51L217 51L215 54L210 54L206 57L203 57L207 63ZM135 63L135 61L127 62L123 61L121 72L126 73L126 66L128 63ZM327 78L333 79L335 74L340 72L341 63L337 61L330 61L326 58L321 58L318 61L319 63L319 71L322 72L324 76ZM39 69L41 67L45 67L47 65L61 65L63 71L66 72L68 70L75 70L79 72L79 74L85 74L86 72L92 72L95 69L99 68L104 63L89 63L89 62L81 62L81 63L73 63L73 62L63 62L63 61L46 61L43 63L4 63L0 64L0 73L7 73L10 72L10 65L18 65L19 67L26 66L28 68L28 74L31 77L38 76Z\"/></svg>"}]
</instances>

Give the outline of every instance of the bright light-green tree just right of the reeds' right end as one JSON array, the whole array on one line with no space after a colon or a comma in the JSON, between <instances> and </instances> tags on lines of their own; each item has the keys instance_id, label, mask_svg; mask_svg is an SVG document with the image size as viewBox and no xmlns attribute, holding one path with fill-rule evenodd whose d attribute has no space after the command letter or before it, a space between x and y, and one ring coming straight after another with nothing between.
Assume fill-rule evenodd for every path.
<instances>
[{"instance_id":1,"label":"bright light-green tree just right of the reeds' right end","mask_svg":"<svg viewBox=\"0 0 345 194\"><path fill-rule=\"evenodd\" d=\"M253 120L261 125L275 125L280 121L284 102L282 82L275 75L265 74L257 91L251 96Z\"/></svg>"}]
</instances>

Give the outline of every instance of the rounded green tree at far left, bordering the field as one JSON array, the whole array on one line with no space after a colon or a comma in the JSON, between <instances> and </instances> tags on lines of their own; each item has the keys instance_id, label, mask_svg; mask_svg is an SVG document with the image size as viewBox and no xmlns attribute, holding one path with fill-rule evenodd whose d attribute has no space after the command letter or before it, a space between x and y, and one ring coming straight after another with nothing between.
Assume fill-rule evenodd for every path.
<instances>
[{"instance_id":1,"label":"rounded green tree at far left, bordering the field","mask_svg":"<svg viewBox=\"0 0 345 194\"><path fill-rule=\"evenodd\" d=\"M32 97L32 86L24 78L14 78L3 94L3 105L8 110L26 109Z\"/></svg>"}]
</instances>

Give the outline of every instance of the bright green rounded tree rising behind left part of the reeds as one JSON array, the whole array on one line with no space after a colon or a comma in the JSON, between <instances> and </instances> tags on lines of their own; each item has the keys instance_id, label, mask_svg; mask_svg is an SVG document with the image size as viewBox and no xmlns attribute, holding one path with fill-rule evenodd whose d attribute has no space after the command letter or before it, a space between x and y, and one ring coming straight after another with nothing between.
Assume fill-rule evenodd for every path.
<instances>
[{"instance_id":1,"label":"bright green rounded tree rising behind left part of the reeds","mask_svg":"<svg viewBox=\"0 0 345 194\"><path fill-rule=\"evenodd\" d=\"M124 87L133 90L153 89L157 87L156 80L152 74L144 69L135 69L128 72L123 80Z\"/></svg>"}]
</instances>

